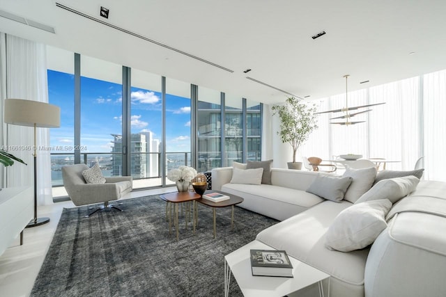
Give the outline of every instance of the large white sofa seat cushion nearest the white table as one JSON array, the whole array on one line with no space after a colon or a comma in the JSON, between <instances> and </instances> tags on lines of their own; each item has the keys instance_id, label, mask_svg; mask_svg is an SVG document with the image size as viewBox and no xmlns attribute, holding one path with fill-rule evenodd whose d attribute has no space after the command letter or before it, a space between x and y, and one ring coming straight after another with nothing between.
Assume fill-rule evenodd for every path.
<instances>
[{"instance_id":1,"label":"large white sofa seat cushion nearest the white table","mask_svg":"<svg viewBox=\"0 0 446 297\"><path fill-rule=\"evenodd\" d=\"M329 273L330 292L337 296L364 296L364 268L369 248L339 252L325 248L325 232L334 218L353 205L325 200L301 214L260 232L256 239L286 252L306 264ZM353 293L355 292L355 293ZM331 294L330 294L331 296Z\"/></svg>"}]
</instances>

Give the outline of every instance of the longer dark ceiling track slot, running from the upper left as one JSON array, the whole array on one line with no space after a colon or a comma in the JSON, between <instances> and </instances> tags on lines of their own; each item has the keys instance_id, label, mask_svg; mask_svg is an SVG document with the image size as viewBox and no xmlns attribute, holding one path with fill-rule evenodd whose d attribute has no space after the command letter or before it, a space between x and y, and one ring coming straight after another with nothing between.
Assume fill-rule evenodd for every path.
<instances>
[{"instance_id":1,"label":"longer dark ceiling track slot, running from the upper left","mask_svg":"<svg viewBox=\"0 0 446 297\"><path fill-rule=\"evenodd\" d=\"M153 43L154 45L158 45L158 46L160 46L160 47L164 47L165 49L170 49L171 51L176 51L178 54L182 54L182 55L184 55L184 56L188 56L188 57L190 57L190 58L193 58L193 59L195 59L195 60L197 60L197 61L206 63L206 64L208 64L208 65L212 65L212 66L217 67L217 68L220 68L221 70L224 70L224 71L227 71L227 72L231 72L231 73L234 72L233 70L230 70L229 68L226 68L226 67L223 67L223 66L221 66L221 65L215 64L215 63L210 62L210 61L208 61L208 60L205 60L205 59L203 59L203 58L194 56L194 55L192 55L192 54L187 53L186 51L182 51L182 50L180 50L180 49L176 49L175 47L171 47L171 46L169 46L169 45L164 45L164 43L162 43L162 42L158 42L158 41L153 40L153 39L151 39L151 38L147 38L146 36L139 35L138 33L134 33L134 32L132 32L132 31L123 29L123 28L118 27L118 26L115 26L115 25L113 25L113 24L109 24L109 23L107 23L107 22L102 21L101 19L97 19L97 18L95 18L95 17L92 17L91 15L87 15L86 13L81 13L80 11L77 11L77 10L75 10L75 9L73 9L73 8L68 7L68 6L64 6L64 5L61 4L61 3L57 3L57 2L56 2L56 6L59 7L59 8L62 8L62 9L64 9L64 10L68 10L70 13L75 13L76 15L80 15L81 17L86 17L87 19L91 19L91 20L94 21L94 22L98 22L98 23L103 24L103 25L105 25L105 26L109 26L109 27L112 28L112 29L121 31L121 32L123 32L123 33L127 33L127 34L129 34L129 35L132 35L132 36L134 36L134 37L140 38L140 39L142 39L142 40L146 40L146 41L148 41L148 42Z\"/></svg>"}]
</instances>

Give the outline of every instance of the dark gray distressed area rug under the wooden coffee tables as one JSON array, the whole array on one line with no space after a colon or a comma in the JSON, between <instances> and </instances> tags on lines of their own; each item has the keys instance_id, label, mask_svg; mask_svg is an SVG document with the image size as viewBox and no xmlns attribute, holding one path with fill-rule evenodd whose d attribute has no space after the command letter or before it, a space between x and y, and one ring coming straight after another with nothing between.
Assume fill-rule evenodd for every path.
<instances>
[{"instance_id":1,"label":"dark gray distressed area rug under the wooden coffee tables","mask_svg":"<svg viewBox=\"0 0 446 297\"><path fill-rule=\"evenodd\" d=\"M180 217L176 241L158 196L121 202L123 212L90 218L88 207L63 209L31 296L222 296L224 255L277 223L236 207L231 230L231 207L217 209L214 239L212 209L199 204L197 232ZM234 280L230 294L242 296Z\"/></svg>"}]
</instances>

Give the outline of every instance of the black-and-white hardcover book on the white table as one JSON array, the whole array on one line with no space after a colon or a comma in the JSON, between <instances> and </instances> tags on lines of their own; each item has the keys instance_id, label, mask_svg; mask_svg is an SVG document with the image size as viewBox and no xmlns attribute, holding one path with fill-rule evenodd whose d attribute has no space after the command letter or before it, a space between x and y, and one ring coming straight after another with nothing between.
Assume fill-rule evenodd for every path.
<instances>
[{"instance_id":1,"label":"black-and-white hardcover book on the white table","mask_svg":"<svg viewBox=\"0 0 446 297\"><path fill-rule=\"evenodd\" d=\"M284 250L250 250L252 275L293 278L293 265Z\"/></svg>"}]
</instances>

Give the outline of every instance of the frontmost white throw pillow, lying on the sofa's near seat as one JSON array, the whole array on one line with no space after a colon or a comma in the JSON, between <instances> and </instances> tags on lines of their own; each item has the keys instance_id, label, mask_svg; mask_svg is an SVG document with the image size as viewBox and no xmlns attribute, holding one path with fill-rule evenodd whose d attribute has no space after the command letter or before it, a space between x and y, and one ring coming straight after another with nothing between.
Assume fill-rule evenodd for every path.
<instances>
[{"instance_id":1,"label":"frontmost white throw pillow, lying on the sofa's near seat","mask_svg":"<svg viewBox=\"0 0 446 297\"><path fill-rule=\"evenodd\" d=\"M325 234L325 246L330 250L350 252L374 243L385 230L385 216L392 202L387 199L354 204L341 211Z\"/></svg>"}]
</instances>

